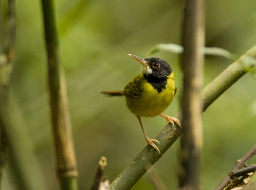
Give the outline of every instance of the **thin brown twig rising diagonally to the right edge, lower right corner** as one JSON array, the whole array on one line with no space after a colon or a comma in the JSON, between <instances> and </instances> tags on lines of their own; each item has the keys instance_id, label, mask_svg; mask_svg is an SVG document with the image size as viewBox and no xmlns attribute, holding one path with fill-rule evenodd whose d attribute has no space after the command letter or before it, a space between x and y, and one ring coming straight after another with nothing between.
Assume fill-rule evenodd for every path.
<instances>
[{"instance_id":1,"label":"thin brown twig rising diagonally to the right edge, lower right corner","mask_svg":"<svg viewBox=\"0 0 256 190\"><path fill-rule=\"evenodd\" d=\"M256 154L256 145L254 145L254 147L249 152L247 152L243 158L241 158L238 162L236 162L235 166L232 168L231 171L236 171L238 169L241 169L244 166L244 164L246 164L255 154ZM231 178L229 177L229 175L227 175L217 186L216 190L221 190L225 188L228 185L230 180Z\"/></svg>"}]
</instances>

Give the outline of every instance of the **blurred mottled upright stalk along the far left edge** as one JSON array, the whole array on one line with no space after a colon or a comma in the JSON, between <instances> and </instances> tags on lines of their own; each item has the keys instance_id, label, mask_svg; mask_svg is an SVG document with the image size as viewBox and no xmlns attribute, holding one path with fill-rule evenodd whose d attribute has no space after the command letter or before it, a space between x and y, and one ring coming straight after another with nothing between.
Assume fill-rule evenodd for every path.
<instances>
[{"instance_id":1,"label":"blurred mottled upright stalk along the far left edge","mask_svg":"<svg viewBox=\"0 0 256 190\"><path fill-rule=\"evenodd\" d=\"M0 183L2 181L1 179L7 157L7 137L5 128L7 127L6 117L10 96L10 75L15 55L16 15L14 0L8 0L7 12L4 14L3 25L3 52L0 56Z\"/></svg>"}]
</instances>

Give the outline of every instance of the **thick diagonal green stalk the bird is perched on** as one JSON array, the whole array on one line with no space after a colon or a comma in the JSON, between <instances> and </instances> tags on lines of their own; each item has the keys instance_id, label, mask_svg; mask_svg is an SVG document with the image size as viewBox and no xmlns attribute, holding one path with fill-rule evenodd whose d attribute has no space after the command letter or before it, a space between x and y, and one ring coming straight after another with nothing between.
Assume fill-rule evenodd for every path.
<instances>
[{"instance_id":1,"label":"thick diagonal green stalk the bird is perched on","mask_svg":"<svg viewBox=\"0 0 256 190\"><path fill-rule=\"evenodd\" d=\"M217 76L202 91L203 111L205 111L223 92L231 87L245 73L256 66L256 46L248 50L236 62L229 65L219 76ZM175 116L182 119L181 111ZM166 125L154 139L160 152L164 152L179 138L181 134L178 125ZM110 184L110 189L131 189L132 186L146 173L149 165L153 165L162 156L152 151L154 148L146 146L124 171ZM146 169L147 168L147 169Z\"/></svg>"}]
</instances>

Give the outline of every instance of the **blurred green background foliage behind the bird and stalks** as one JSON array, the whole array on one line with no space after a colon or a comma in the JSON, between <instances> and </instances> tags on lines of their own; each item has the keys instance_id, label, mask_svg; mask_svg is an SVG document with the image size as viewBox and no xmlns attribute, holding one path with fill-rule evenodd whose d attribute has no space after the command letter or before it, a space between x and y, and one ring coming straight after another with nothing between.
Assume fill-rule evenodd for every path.
<instances>
[{"instance_id":1,"label":"blurred green background foliage behind the bird and stalks","mask_svg":"<svg viewBox=\"0 0 256 190\"><path fill-rule=\"evenodd\" d=\"M3 4L1 3L3 6ZM140 72L140 64L127 54L148 57L158 43L180 44L182 1L84 1L55 2L61 61L65 68L68 102L79 171L79 189L89 189L100 156L106 156L105 175L113 181L145 147L137 118L124 98L106 98L103 90L122 90ZM2 7L1 7L2 8ZM237 55L256 44L256 1L206 1L206 46L220 47ZM11 77L12 121L29 148L37 167L28 163L45 187L58 189L54 169L52 131L47 89L46 54L40 1L17 1L16 60ZM1 29L0 29L1 30ZM167 60L175 72L178 93L164 112L180 110L182 73L180 57L168 52L154 56ZM232 61L207 56L204 86ZM204 147L202 189L213 189L256 142L256 80L246 74L203 114ZM160 117L142 118L153 138L165 125ZM20 144L20 140L17 139ZM22 144L21 143L21 144ZM154 165L168 189L176 189L175 144ZM11 155L10 155L11 156ZM10 157L9 156L9 157ZM250 163L255 163L255 158ZM24 161L26 164L28 161ZM3 189L17 189L9 165ZM133 190L154 189L145 174Z\"/></svg>"}]
</instances>

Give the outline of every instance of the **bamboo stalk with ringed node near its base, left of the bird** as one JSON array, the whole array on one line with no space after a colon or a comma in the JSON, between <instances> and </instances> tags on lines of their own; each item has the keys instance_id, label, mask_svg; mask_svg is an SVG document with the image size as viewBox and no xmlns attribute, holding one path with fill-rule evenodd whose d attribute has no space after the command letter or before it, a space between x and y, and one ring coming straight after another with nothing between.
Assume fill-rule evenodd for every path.
<instances>
[{"instance_id":1,"label":"bamboo stalk with ringed node near its base, left of the bird","mask_svg":"<svg viewBox=\"0 0 256 190\"><path fill-rule=\"evenodd\" d=\"M60 63L53 2L52 0L42 0L41 2L57 173L61 189L77 189L77 163L68 111L65 76Z\"/></svg>"}]
</instances>

